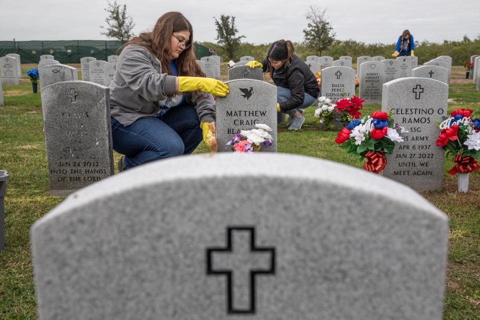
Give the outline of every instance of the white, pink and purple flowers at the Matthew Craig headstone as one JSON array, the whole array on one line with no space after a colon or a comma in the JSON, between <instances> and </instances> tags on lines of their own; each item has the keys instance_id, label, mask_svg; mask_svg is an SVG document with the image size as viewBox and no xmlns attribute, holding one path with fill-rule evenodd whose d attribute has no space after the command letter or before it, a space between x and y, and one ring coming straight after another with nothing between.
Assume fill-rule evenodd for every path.
<instances>
[{"instance_id":1,"label":"white, pink and purple flowers at the Matthew Craig headstone","mask_svg":"<svg viewBox=\"0 0 480 320\"><path fill-rule=\"evenodd\" d=\"M258 123L254 129L241 130L240 134L235 134L226 145L231 145L231 150L235 152L259 152L262 145L271 145L272 137L268 131L271 131L268 125Z\"/></svg>"}]
</instances>

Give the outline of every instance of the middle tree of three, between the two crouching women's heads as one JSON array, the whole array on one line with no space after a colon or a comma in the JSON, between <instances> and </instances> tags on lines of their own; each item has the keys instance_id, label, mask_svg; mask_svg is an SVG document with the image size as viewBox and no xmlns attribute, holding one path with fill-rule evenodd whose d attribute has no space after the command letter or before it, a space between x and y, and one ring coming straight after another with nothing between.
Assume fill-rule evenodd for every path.
<instances>
[{"instance_id":1,"label":"middle tree of three, between the two crouching women's heads","mask_svg":"<svg viewBox=\"0 0 480 320\"><path fill-rule=\"evenodd\" d=\"M241 38L244 38L244 35L236 36L238 29L235 26L235 17L220 14L220 20L218 21L215 17L216 25L216 38L217 44L226 52L228 59L233 59L235 56L236 50L240 46Z\"/></svg>"}]
</instances>

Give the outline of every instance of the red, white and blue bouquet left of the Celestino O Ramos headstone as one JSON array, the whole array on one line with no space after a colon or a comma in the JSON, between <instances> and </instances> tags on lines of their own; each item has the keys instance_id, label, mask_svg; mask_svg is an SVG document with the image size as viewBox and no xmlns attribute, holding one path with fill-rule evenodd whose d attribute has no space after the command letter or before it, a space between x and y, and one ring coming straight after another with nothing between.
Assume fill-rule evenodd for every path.
<instances>
[{"instance_id":1,"label":"red, white and blue bouquet left of the Celestino O Ramos headstone","mask_svg":"<svg viewBox=\"0 0 480 320\"><path fill-rule=\"evenodd\" d=\"M335 142L347 153L365 158L363 169L380 173L386 166L385 154L391 154L395 142L402 142L405 128L393 123L391 110L375 111L371 117L353 119L337 134Z\"/></svg>"}]
</instances>

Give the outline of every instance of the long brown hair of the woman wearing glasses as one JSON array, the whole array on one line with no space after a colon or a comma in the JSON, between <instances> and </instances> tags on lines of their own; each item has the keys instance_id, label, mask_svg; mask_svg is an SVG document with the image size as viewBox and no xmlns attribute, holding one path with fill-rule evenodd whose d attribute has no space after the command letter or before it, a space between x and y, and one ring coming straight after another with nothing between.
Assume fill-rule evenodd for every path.
<instances>
[{"instance_id":1,"label":"long brown hair of the woman wearing glasses","mask_svg":"<svg viewBox=\"0 0 480 320\"><path fill-rule=\"evenodd\" d=\"M151 32L142 32L137 37L126 42L121 48L129 44L138 44L150 51L161 63L162 72L172 74L170 68L170 38L173 32L189 31L188 43L190 46L181 51L175 59L175 67L178 75L183 76L205 76L205 73L196 63L193 51L193 29L191 23L180 12L171 11L158 18ZM163 71L165 70L165 71Z\"/></svg>"}]
</instances>

